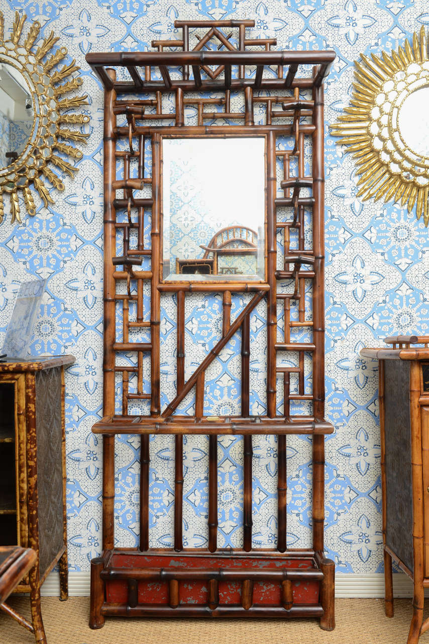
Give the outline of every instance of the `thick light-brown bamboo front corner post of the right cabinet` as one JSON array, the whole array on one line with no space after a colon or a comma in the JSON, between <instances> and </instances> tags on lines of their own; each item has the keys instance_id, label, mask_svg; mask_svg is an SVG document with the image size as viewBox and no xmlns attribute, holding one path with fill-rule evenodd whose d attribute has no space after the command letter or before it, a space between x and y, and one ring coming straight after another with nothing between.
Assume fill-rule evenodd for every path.
<instances>
[{"instance_id":1,"label":"thick light-brown bamboo front corner post of the right cabinet","mask_svg":"<svg viewBox=\"0 0 429 644\"><path fill-rule=\"evenodd\" d=\"M424 522L423 522L423 461L421 450L420 363L410 364L411 473L413 500L414 593L413 616L407 644L417 644L423 623L424 604Z\"/></svg>"}]
</instances>

